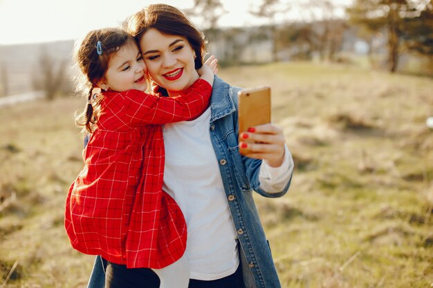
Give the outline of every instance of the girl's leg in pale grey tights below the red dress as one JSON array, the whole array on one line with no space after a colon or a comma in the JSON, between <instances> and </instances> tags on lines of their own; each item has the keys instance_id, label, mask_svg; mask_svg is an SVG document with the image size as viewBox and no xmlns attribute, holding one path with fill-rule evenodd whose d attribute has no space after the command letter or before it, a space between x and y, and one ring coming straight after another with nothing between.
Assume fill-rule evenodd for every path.
<instances>
[{"instance_id":1,"label":"girl's leg in pale grey tights below the red dress","mask_svg":"<svg viewBox=\"0 0 433 288\"><path fill-rule=\"evenodd\" d=\"M181 259L163 269L153 269L160 278L160 288L187 288L190 282L190 265L183 254Z\"/></svg>"}]
</instances>

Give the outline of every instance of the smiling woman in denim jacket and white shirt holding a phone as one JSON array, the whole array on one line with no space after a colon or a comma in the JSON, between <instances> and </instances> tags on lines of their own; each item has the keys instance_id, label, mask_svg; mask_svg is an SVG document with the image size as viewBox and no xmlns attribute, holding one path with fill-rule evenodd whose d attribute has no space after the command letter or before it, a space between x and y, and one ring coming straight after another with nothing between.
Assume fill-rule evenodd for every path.
<instances>
[{"instance_id":1,"label":"smiling woman in denim jacket and white shirt holding a phone","mask_svg":"<svg viewBox=\"0 0 433 288\"><path fill-rule=\"evenodd\" d=\"M195 69L202 65L205 43L182 12L150 5L127 26L140 43L150 77L169 96L199 77ZM268 198L284 195L293 160L282 129L273 124L238 135L238 91L215 77L210 108L163 131L164 189L187 222L190 287L281 287L252 191ZM89 287L103 287L102 266L97 258ZM122 271L107 267L107 277L122 277ZM131 287L158 287L148 285L158 279L151 271L146 279L129 279Z\"/></svg>"}]
</instances>

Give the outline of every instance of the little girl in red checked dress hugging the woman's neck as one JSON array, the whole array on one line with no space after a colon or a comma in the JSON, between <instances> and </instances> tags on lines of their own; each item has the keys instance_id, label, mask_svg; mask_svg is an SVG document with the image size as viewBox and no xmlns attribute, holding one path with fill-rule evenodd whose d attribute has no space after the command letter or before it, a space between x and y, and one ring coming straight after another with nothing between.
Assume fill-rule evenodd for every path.
<instances>
[{"instance_id":1,"label":"little girl in red checked dress hugging the woman's neck","mask_svg":"<svg viewBox=\"0 0 433 288\"><path fill-rule=\"evenodd\" d=\"M138 44L117 28L89 32L77 51L77 64L89 84L83 125L91 136L83 151L84 168L66 198L71 244L128 269L152 268L160 287L187 287L186 224L181 209L162 189L160 124L205 111L216 60L208 60L201 79L179 97L144 92L147 69ZM180 69L164 77L174 81L182 73ZM94 88L102 92L94 94Z\"/></svg>"}]
</instances>

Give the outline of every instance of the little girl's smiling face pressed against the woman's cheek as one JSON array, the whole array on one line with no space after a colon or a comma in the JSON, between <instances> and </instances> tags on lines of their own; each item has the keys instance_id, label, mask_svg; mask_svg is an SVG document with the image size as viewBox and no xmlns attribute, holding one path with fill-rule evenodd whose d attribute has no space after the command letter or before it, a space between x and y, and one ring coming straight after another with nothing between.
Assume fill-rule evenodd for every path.
<instances>
[{"instance_id":1,"label":"little girl's smiling face pressed against the woman's cheek","mask_svg":"<svg viewBox=\"0 0 433 288\"><path fill-rule=\"evenodd\" d=\"M147 69L141 52L135 44L127 43L109 59L104 79L98 82L104 90L123 92L147 88Z\"/></svg>"}]
</instances>

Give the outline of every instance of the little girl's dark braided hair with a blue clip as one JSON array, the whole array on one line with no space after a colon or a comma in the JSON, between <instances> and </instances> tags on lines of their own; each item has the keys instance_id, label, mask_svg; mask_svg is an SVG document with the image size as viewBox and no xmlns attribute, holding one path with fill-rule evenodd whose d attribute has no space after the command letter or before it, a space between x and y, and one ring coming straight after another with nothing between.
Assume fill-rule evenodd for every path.
<instances>
[{"instance_id":1,"label":"little girl's dark braided hair with a blue clip","mask_svg":"<svg viewBox=\"0 0 433 288\"><path fill-rule=\"evenodd\" d=\"M102 28L91 30L84 37L75 52L75 61L84 77L79 85L87 99L83 113L76 117L80 126L92 133L98 122L98 98L92 99L92 90L98 82L104 78L109 66L109 60L113 53L122 46L137 45L136 40L119 28Z\"/></svg>"}]
</instances>

